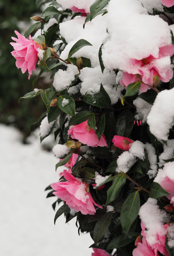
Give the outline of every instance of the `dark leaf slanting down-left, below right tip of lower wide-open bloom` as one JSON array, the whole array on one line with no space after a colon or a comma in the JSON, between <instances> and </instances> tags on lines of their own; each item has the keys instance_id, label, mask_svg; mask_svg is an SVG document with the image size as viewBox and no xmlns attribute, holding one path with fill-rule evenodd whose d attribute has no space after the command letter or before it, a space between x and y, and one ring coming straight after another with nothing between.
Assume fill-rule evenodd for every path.
<instances>
[{"instance_id":1,"label":"dark leaf slanting down-left, below right tip of lower wide-open bloom","mask_svg":"<svg viewBox=\"0 0 174 256\"><path fill-rule=\"evenodd\" d=\"M106 233L112 219L112 212L106 213L102 215L102 217L97 221L94 232L93 232L93 239L95 245L97 245L98 241L102 238L102 236Z\"/></svg>"}]
</instances>

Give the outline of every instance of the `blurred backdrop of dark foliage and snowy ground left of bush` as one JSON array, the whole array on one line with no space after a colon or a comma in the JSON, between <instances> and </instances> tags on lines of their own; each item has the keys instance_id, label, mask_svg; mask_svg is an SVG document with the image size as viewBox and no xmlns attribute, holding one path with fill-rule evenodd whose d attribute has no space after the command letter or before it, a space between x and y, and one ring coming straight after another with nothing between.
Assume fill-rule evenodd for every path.
<instances>
[{"instance_id":1,"label":"blurred backdrop of dark foliage and snowy ground left of bush","mask_svg":"<svg viewBox=\"0 0 174 256\"><path fill-rule=\"evenodd\" d=\"M0 0L0 254L90 256L93 241L89 235L78 235L75 219L65 224L62 215L56 226L53 223L55 198L46 199L44 190L59 180L57 159L40 147L39 124L30 130L45 105L40 97L18 103L33 90L34 76L28 80L28 73L16 68L11 37L16 37L14 30L24 35L32 24L29 18L39 12L32 0ZM36 87L44 89L49 83L39 78Z\"/></svg>"}]
</instances>

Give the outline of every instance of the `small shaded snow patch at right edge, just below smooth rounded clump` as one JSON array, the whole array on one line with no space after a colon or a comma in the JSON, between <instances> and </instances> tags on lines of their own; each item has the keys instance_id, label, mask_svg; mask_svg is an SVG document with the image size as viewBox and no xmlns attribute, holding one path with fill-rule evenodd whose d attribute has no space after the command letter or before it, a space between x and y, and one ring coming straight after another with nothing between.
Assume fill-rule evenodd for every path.
<instances>
[{"instance_id":1,"label":"small shaded snow patch at right edge, just below smooth rounded clump","mask_svg":"<svg viewBox=\"0 0 174 256\"><path fill-rule=\"evenodd\" d=\"M165 163L164 160L168 160L174 157L174 140L168 140L166 144L163 143L163 149L163 153L161 153L161 155L159 156L160 167Z\"/></svg>"}]
</instances>

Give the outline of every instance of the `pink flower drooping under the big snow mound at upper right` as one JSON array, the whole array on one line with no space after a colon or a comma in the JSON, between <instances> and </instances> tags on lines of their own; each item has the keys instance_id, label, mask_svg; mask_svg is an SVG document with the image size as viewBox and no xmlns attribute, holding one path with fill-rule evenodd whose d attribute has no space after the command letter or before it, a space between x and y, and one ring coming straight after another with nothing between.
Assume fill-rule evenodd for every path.
<instances>
[{"instance_id":1,"label":"pink flower drooping under the big snow mound at upper right","mask_svg":"<svg viewBox=\"0 0 174 256\"><path fill-rule=\"evenodd\" d=\"M174 45L167 45L159 48L158 58L149 55L142 60L130 59L130 71L129 73L123 72L120 84L127 87L131 83L142 81L139 91L146 92L150 89L146 84L155 86L160 80L169 82L173 77L173 71L168 63L161 65L161 61L166 57L171 57L173 53Z\"/></svg>"}]
</instances>

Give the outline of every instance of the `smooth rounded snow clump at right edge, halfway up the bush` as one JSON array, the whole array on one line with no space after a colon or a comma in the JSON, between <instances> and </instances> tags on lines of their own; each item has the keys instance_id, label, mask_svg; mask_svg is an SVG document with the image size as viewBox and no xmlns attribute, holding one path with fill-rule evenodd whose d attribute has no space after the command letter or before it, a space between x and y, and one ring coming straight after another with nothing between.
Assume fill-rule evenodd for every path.
<instances>
[{"instance_id":1,"label":"smooth rounded snow clump at right edge, halfway up the bush","mask_svg":"<svg viewBox=\"0 0 174 256\"><path fill-rule=\"evenodd\" d=\"M147 117L150 131L159 140L167 140L174 125L174 88L164 90L156 96L154 105Z\"/></svg>"}]
</instances>

